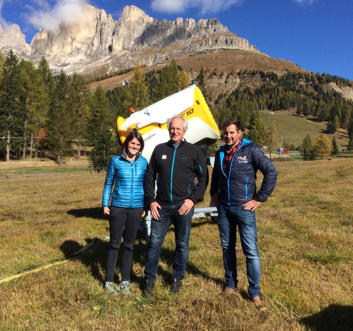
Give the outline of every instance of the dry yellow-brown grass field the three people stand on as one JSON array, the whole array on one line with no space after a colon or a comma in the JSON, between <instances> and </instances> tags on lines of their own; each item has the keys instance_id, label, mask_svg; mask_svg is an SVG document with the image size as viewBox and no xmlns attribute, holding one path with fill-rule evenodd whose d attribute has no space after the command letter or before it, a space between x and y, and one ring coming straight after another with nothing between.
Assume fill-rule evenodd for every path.
<instances>
[{"instance_id":1,"label":"dry yellow-brown grass field the three people stand on","mask_svg":"<svg viewBox=\"0 0 353 331\"><path fill-rule=\"evenodd\" d=\"M218 296L224 286L222 248L210 219L193 222L178 296L167 289L173 227L149 300L140 296L144 240L135 243L130 296L109 297L103 289L106 240L67 263L4 281L27 267L73 254L109 230L100 208L103 174L2 180L0 330L352 330L352 159L275 165L275 191L257 209L264 311L249 300L240 246L240 295ZM202 205L208 200L206 194Z\"/></svg>"}]
</instances>

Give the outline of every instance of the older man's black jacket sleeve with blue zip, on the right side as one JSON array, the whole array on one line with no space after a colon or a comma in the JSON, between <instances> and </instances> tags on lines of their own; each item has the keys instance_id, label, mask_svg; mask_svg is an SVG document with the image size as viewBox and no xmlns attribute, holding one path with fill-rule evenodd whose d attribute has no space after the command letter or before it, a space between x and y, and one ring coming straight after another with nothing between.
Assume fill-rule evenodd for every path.
<instances>
[{"instance_id":1,"label":"older man's black jacket sleeve with blue zip, on the right side","mask_svg":"<svg viewBox=\"0 0 353 331\"><path fill-rule=\"evenodd\" d=\"M208 167L201 150L198 147L196 147L195 150L197 152L195 174L197 176L198 182L195 190L190 194L190 199L194 204L197 204L204 199L205 191L208 185Z\"/></svg>"}]
</instances>

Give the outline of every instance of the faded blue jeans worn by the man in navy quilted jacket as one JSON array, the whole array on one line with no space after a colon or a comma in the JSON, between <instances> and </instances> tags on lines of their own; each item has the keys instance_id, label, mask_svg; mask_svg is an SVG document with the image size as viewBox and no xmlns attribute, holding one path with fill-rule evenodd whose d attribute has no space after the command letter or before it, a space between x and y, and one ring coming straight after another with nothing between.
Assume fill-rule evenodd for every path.
<instances>
[{"instance_id":1,"label":"faded blue jeans worn by the man in navy quilted jacket","mask_svg":"<svg viewBox=\"0 0 353 331\"><path fill-rule=\"evenodd\" d=\"M241 205L219 205L217 225L223 247L223 263L226 287L237 288L237 225L240 234L241 248L246 257L246 274L249 281L249 293L252 298L260 291L260 257L257 249L257 232L255 211L246 210Z\"/></svg>"}]
</instances>

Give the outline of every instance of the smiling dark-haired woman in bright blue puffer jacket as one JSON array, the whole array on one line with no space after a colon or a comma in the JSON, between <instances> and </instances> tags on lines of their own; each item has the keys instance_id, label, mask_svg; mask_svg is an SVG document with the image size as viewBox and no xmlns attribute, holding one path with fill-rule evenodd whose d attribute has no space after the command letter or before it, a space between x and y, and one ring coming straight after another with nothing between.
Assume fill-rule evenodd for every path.
<instances>
[{"instance_id":1,"label":"smiling dark-haired woman in bright blue puffer jacket","mask_svg":"<svg viewBox=\"0 0 353 331\"><path fill-rule=\"evenodd\" d=\"M110 159L106 181L104 182L102 207L104 215L109 215L110 231L105 288L111 295L117 294L113 286L113 278L124 227L119 289L121 293L128 294L132 287L128 281L130 280L133 244L139 223L145 215L142 184L147 160L140 155L143 147L142 135L138 132L131 132L121 146L121 155ZM112 192L114 181L115 185Z\"/></svg>"}]
</instances>

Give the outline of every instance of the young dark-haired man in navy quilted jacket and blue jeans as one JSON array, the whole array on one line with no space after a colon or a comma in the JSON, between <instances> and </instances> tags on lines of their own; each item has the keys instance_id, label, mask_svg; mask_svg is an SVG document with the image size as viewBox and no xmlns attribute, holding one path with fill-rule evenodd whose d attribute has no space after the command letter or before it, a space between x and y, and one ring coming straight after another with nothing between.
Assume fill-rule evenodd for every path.
<instances>
[{"instance_id":1,"label":"young dark-haired man in navy quilted jacket and blue jeans","mask_svg":"<svg viewBox=\"0 0 353 331\"><path fill-rule=\"evenodd\" d=\"M272 193L277 170L270 159L252 141L241 139L240 122L229 118L223 125L226 145L216 152L210 194L219 211L219 227L223 247L226 288L222 297L237 290L237 257L235 244L237 226L241 248L246 257L249 294L257 308L264 304L259 298L260 257L257 249L255 209ZM256 190L256 173L263 175L261 188Z\"/></svg>"}]
</instances>

